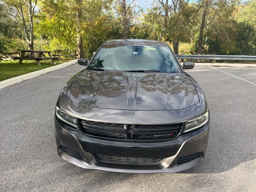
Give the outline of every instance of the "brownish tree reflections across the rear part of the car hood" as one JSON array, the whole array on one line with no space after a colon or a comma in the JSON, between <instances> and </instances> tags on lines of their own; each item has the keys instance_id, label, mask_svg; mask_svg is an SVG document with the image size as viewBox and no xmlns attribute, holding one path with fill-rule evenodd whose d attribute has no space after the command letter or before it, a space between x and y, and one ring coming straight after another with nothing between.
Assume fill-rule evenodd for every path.
<instances>
[{"instance_id":1,"label":"brownish tree reflections across the rear part of the car hood","mask_svg":"<svg viewBox=\"0 0 256 192\"><path fill-rule=\"evenodd\" d=\"M117 98L126 96L133 89L148 92L160 91L174 95L184 93L196 95L194 85L185 75L168 76L167 74L126 74L120 72L84 71L70 86L67 98L84 106L95 107L97 97Z\"/></svg>"}]
</instances>

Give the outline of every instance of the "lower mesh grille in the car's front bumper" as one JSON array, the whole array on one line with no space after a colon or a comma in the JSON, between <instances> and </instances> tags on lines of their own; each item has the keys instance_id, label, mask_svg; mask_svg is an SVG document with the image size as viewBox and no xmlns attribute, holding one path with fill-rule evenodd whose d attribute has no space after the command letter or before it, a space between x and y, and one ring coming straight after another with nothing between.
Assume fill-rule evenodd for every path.
<instances>
[{"instance_id":1,"label":"lower mesh grille in the car's front bumper","mask_svg":"<svg viewBox=\"0 0 256 192\"><path fill-rule=\"evenodd\" d=\"M164 158L116 157L101 154L94 154L94 157L102 162L120 164L158 164L164 160Z\"/></svg>"}]
</instances>

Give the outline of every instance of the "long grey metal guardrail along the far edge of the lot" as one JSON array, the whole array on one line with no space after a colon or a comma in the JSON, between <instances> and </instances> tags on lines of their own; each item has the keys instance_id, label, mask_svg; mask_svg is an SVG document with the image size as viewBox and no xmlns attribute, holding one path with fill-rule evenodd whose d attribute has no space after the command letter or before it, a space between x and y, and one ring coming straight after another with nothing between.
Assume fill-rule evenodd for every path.
<instances>
[{"instance_id":1,"label":"long grey metal guardrail along the far edge of the lot","mask_svg":"<svg viewBox=\"0 0 256 192\"><path fill-rule=\"evenodd\" d=\"M178 59L256 61L256 56L248 56L248 55L176 55L176 56Z\"/></svg>"}]
</instances>

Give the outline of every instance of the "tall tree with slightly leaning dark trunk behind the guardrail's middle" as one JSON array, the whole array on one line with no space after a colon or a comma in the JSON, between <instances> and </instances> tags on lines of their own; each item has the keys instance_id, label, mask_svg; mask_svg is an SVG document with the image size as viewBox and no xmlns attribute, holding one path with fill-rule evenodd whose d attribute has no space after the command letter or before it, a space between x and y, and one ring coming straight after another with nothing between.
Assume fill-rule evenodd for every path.
<instances>
[{"instance_id":1,"label":"tall tree with slightly leaning dark trunk behind the guardrail's middle","mask_svg":"<svg viewBox=\"0 0 256 192\"><path fill-rule=\"evenodd\" d=\"M233 16L235 7L234 2L227 0L208 2L205 21L202 19L204 16L200 17L200 22L196 26L197 32L191 46L191 53L225 55L238 52L236 46L238 25ZM204 10L205 7L201 15L204 14ZM201 42L202 46L199 45Z\"/></svg>"}]
</instances>

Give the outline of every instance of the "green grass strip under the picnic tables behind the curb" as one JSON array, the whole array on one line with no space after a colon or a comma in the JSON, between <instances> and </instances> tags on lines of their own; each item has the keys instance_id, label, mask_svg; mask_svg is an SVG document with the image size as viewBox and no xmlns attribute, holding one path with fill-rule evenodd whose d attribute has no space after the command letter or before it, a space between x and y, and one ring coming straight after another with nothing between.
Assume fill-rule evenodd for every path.
<instances>
[{"instance_id":1,"label":"green grass strip under the picnic tables behind the curb","mask_svg":"<svg viewBox=\"0 0 256 192\"><path fill-rule=\"evenodd\" d=\"M51 60L40 61L41 66L37 66L35 61L23 60L21 65L18 62L19 60L0 62L0 81L55 66ZM56 61L56 65L64 62L67 61Z\"/></svg>"}]
</instances>

